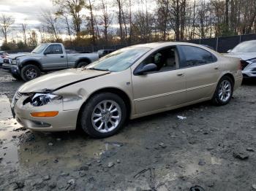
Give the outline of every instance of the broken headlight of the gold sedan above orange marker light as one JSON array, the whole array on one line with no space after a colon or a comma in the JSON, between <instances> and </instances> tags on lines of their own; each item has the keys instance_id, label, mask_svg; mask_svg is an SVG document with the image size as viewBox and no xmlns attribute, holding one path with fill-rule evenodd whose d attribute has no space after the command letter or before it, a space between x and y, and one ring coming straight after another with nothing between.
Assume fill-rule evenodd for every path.
<instances>
[{"instance_id":1,"label":"broken headlight of the gold sedan above orange marker light","mask_svg":"<svg viewBox=\"0 0 256 191\"><path fill-rule=\"evenodd\" d=\"M51 93L35 93L34 96L30 100L30 104L32 106L44 106L49 102L61 99L60 95L54 95Z\"/></svg>"}]
</instances>

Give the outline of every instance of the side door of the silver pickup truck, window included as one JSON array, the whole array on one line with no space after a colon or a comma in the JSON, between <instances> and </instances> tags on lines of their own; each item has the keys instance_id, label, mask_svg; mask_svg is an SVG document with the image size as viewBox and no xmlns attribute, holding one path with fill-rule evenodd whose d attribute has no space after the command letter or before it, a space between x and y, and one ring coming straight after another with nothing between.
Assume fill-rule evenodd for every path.
<instances>
[{"instance_id":1,"label":"side door of the silver pickup truck, window included","mask_svg":"<svg viewBox=\"0 0 256 191\"><path fill-rule=\"evenodd\" d=\"M46 69L67 68L67 55L64 55L61 44L49 45L42 57L42 63Z\"/></svg>"}]
</instances>

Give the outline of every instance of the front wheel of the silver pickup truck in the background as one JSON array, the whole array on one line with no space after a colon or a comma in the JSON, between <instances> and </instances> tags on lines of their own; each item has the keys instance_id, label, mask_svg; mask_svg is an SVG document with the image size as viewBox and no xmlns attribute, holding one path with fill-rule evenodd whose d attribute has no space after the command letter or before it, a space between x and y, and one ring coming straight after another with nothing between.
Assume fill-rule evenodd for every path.
<instances>
[{"instance_id":1,"label":"front wheel of the silver pickup truck in the background","mask_svg":"<svg viewBox=\"0 0 256 191\"><path fill-rule=\"evenodd\" d=\"M20 76L25 82L39 77L40 74L41 74L40 69L37 66L31 65L31 64L24 66L20 70Z\"/></svg>"}]
</instances>

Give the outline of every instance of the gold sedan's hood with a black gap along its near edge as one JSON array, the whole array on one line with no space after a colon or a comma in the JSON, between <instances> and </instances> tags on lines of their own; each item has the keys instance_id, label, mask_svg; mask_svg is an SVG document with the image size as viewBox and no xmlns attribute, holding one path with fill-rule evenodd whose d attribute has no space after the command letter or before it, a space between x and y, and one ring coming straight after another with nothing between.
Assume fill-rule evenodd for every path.
<instances>
[{"instance_id":1,"label":"gold sedan's hood with a black gap along its near edge","mask_svg":"<svg viewBox=\"0 0 256 191\"><path fill-rule=\"evenodd\" d=\"M86 69L67 69L56 71L26 82L18 91L20 93L43 93L54 91L61 87L92 79L94 77L99 77L108 73L110 72Z\"/></svg>"}]
</instances>

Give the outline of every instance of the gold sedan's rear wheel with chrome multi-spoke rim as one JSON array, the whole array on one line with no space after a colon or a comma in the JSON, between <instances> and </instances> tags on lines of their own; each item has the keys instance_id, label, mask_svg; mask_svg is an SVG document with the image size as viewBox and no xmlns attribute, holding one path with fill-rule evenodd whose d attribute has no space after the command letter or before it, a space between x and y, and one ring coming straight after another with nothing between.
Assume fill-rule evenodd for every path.
<instances>
[{"instance_id":1,"label":"gold sedan's rear wheel with chrome multi-spoke rim","mask_svg":"<svg viewBox=\"0 0 256 191\"><path fill-rule=\"evenodd\" d=\"M233 80L230 77L224 76L219 80L214 97L211 99L211 101L217 106L223 106L230 102L232 95Z\"/></svg>"}]
</instances>

